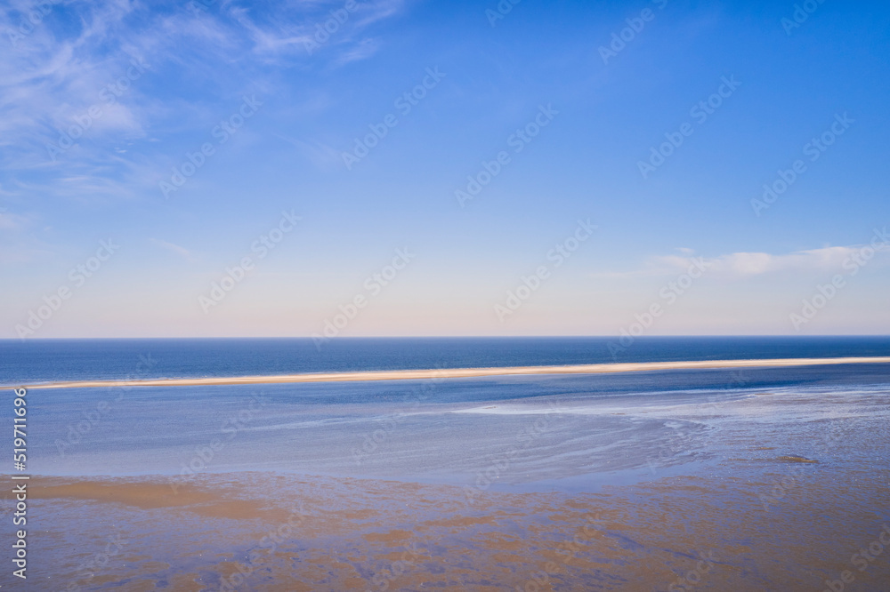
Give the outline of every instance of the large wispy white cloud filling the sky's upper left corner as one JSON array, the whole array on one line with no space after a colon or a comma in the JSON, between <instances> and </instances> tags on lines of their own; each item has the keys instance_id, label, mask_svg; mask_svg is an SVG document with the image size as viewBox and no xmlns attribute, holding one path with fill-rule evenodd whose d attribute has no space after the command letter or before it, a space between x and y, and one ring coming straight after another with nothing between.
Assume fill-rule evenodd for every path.
<instances>
[{"instance_id":1,"label":"large wispy white cloud filling the sky's upper left corner","mask_svg":"<svg viewBox=\"0 0 890 592\"><path fill-rule=\"evenodd\" d=\"M14 45L0 39L7 45L0 53L0 182L80 201L132 198L157 183L134 169L155 161L161 170L182 158L179 134L206 134L245 92L279 92L280 67L368 59L380 42L360 31L402 5L360 3L330 44L334 51L312 56L306 40L343 2L218 2L197 11L129 0L0 6L7 33L30 12L45 12ZM137 73L134 63L145 70Z\"/></svg>"}]
</instances>

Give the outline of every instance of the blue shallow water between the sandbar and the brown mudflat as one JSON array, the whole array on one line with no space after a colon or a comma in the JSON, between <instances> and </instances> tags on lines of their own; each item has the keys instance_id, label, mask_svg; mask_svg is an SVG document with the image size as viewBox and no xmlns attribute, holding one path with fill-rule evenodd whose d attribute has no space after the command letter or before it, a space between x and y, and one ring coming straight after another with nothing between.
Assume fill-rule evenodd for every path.
<instances>
[{"instance_id":1,"label":"blue shallow water between the sandbar and the brown mudflat","mask_svg":"<svg viewBox=\"0 0 890 592\"><path fill-rule=\"evenodd\" d=\"M28 452L42 475L268 470L475 484L487 474L500 488L566 479L576 490L584 476L602 483L612 471L713 459L714 438L732 426L765 433L853 418L888 376L886 364L868 364L33 390ZM770 397L795 404L780 412Z\"/></svg>"}]
</instances>

